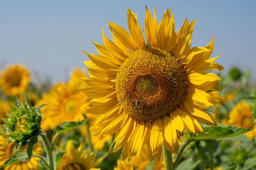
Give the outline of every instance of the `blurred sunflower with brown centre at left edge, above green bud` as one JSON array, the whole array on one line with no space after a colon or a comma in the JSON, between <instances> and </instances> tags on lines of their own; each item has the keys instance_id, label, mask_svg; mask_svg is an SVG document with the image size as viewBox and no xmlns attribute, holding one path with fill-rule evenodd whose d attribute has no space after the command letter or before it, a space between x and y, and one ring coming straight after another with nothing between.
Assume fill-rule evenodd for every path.
<instances>
[{"instance_id":1,"label":"blurred sunflower with brown centre at left edge, above green bud","mask_svg":"<svg viewBox=\"0 0 256 170\"><path fill-rule=\"evenodd\" d=\"M28 87L29 71L20 64L8 66L0 76L0 87L7 96L22 94Z\"/></svg>"}]
</instances>

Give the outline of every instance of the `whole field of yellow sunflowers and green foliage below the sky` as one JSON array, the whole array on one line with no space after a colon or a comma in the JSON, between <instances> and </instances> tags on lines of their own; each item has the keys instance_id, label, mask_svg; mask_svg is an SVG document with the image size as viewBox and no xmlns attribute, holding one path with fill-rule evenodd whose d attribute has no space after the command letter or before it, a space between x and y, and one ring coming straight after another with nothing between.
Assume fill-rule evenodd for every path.
<instances>
[{"instance_id":1,"label":"whole field of yellow sunflowers and green foliage below the sky","mask_svg":"<svg viewBox=\"0 0 256 170\"><path fill-rule=\"evenodd\" d=\"M252 71L222 73L213 38L191 44L196 20L176 28L172 9L157 20L147 6L137 18L107 22L68 81L1 70L1 169L256 169Z\"/></svg>"}]
</instances>

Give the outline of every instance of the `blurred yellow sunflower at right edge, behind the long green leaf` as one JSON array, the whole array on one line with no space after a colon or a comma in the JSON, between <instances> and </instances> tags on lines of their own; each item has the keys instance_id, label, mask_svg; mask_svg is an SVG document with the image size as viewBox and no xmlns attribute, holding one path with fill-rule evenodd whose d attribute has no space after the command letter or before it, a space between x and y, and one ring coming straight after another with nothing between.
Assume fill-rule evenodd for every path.
<instances>
[{"instance_id":1,"label":"blurred yellow sunflower at right edge, behind the long green leaf","mask_svg":"<svg viewBox=\"0 0 256 170\"><path fill-rule=\"evenodd\" d=\"M234 106L228 117L228 124L230 125L236 125L238 127L244 128L256 127L256 125L253 125L253 117L250 105L248 103L244 103L243 101L237 103L236 106ZM255 134L256 129L253 129L244 135L250 139L253 139Z\"/></svg>"}]
</instances>

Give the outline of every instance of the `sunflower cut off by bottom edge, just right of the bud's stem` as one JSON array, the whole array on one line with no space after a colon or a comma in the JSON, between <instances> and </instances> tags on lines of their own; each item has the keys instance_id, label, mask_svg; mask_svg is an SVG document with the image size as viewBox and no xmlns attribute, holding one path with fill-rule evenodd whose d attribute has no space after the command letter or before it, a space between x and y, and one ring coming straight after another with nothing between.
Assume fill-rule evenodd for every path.
<instances>
[{"instance_id":1,"label":"sunflower cut off by bottom edge, just right of the bud's stem","mask_svg":"<svg viewBox=\"0 0 256 170\"><path fill-rule=\"evenodd\" d=\"M95 160L96 155L90 153L86 155L86 150L83 152L83 145L81 144L77 151L72 143L68 141L65 153L56 167L57 170L79 170L79 169L95 169L101 159Z\"/></svg>"}]
</instances>

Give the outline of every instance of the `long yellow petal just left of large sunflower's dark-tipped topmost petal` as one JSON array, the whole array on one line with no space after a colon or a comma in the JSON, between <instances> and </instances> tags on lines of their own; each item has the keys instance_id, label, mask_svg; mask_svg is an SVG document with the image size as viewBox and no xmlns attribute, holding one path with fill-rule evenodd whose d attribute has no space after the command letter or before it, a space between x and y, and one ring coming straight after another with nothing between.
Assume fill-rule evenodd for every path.
<instances>
[{"instance_id":1,"label":"long yellow petal just left of large sunflower's dark-tipped topmost petal","mask_svg":"<svg viewBox=\"0 0 256 170\"><path fill-rule=\"evenodd\" d=\"M129 8L127 8L127 22L128 22L129 32L131 33L131 36L136 43L136 46L138 48L144 49L145 40L141 31L140 25L138 24L136 18L134 17L134 14Z\"/></svg>"}]
</instances>

